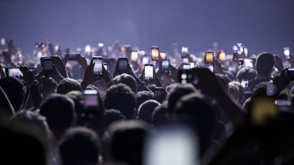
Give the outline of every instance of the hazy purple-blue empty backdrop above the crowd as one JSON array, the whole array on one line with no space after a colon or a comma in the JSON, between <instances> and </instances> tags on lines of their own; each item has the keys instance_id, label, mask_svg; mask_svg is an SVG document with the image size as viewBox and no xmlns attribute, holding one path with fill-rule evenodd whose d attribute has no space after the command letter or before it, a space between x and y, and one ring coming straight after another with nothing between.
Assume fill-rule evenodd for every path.
<instances>
[{"instance_id":1,"label":"hazy purple-blue empty backdrop above the crowd","mask_svg":"<svg viewBox=\"0 0 294 165\"><path fill-rule=\"evenodd\" d=\"M251 54L294 50L293 0L1 0L0 8L0 37L24 53L47 40L71 49L118 40L171 53L176 39L190 53L214 41L228 53L236 43Z\"/></svg>"}]
</instances>

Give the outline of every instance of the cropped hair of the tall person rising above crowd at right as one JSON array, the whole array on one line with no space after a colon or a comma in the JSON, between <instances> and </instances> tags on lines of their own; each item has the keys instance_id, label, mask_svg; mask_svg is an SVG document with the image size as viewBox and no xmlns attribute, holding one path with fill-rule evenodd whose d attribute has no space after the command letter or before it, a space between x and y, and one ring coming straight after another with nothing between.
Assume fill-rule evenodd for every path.
<instances>
[{"instance_id":1,"label":"cropped hair of the tall person rising above crowd at right","mask_svg":"<svg viewBox=\"0 0 294 165\"><path fill-rule=\"evenodd\" d=\"M272 53L262 52L256 57L256 71L260 75L267 75L273 71L275 57Z\"/></svg>"}]
</instances>

